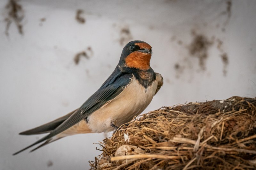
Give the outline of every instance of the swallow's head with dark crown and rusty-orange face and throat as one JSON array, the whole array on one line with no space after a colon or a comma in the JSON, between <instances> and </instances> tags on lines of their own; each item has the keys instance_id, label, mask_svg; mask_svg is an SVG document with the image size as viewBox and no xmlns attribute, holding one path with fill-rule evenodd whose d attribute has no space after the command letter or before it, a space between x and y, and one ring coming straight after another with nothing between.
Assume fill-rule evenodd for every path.
<instances>
[{"instance_id":1,"label":"swallow's head with dark crown and rusty-orange face and throat","mask_svg":"<svg viewBox=\"0 0 256 170\"><path fill-rule=\"evenodd\" d=\"M144 41L131 41L124 46L119 65L148 70L151 59L151 46Z\"/></svg>"}]
</instances>

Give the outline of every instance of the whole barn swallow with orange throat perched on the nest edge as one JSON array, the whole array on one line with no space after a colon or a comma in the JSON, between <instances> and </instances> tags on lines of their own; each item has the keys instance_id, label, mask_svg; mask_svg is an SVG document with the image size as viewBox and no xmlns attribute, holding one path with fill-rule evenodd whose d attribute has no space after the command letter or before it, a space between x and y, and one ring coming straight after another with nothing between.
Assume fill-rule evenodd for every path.
<instances>
[{"instance_id":1,"label":"whole barn swallow with orange throat perched on the nest edge","mask_svg":"<svg viewBox=\"0 0 256 170\"><path fill-rule=\"evenodd\" d=\"M113 131L138 116L163 85L163 77L155 73L149 64L151 48L143 41L129 42L124 46L114 72L100 89L80 108L52 122L21 132L21 135L49 134L13 155L44 142L34 151L69 135Z\"/></svg>"}]
</instances>

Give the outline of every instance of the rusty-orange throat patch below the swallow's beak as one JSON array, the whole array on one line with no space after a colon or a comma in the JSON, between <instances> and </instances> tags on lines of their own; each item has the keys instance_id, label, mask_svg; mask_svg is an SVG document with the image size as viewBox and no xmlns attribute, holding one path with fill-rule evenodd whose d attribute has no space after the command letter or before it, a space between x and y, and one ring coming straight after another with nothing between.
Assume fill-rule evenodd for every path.
<instances>
[{"instance_id":1,"label":"rusty-orange throat patch below the swallow's beak","mask_svg":"<svg viewBox=\"0 0 256 170\"><path fill-rule=\"evenodd\" d=\"M148 70L150 65L151 54L135 51L129 54L125 59L125 64L128 67L137 68L140 70Z\"/></svg>"}]
</instances>

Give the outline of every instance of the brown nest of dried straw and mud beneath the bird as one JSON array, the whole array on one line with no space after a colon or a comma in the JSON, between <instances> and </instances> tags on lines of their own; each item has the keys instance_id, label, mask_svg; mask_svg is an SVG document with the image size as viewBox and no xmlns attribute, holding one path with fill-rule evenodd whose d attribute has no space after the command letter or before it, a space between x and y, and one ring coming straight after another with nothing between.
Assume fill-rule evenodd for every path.
<instances>
[{"instance_id":1,"label":"brown nest of dried straw and mud beneath the bird","mask_svg":"<svg viewBox=\"0 0 256 170\"><path fill-rule=\"evenodd\" d=\"M92 170L256 169L256 98L162 107L100 145Z\"/></svg>"}]
</instances>

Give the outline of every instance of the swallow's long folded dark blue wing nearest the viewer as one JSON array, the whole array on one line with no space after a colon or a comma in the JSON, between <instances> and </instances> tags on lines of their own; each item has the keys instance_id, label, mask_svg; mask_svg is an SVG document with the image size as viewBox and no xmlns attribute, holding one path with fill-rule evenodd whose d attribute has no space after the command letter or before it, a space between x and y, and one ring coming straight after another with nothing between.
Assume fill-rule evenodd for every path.
<instances>
[{"instance_id":1,"label":"swallow's long folded dark blue wing nearest the viewer","mask_svg":"<svg viewBox=\"0 0 256 170\"><path fill-rule=\"evenodd\" d=\"M53 136L61 133L62 131L67 130L71 126L77 124L81 120L88 117L92 114L95 110L98 110L101 106L103 106L109 100L114 99L118 96L123 90L126 85L129 84L132 74L124 74L118 70L118 67L115 71L108 77L108 79L103 83L99 90L97 90L91 97L89 97L84 104L67 120L61 123L56 129L54 129L50 134L46 135L45 137L39 139L32 145L20 150L19 152L14 153L18 154L38 143L43 142Z\"/></svg>"}]
</instances>

